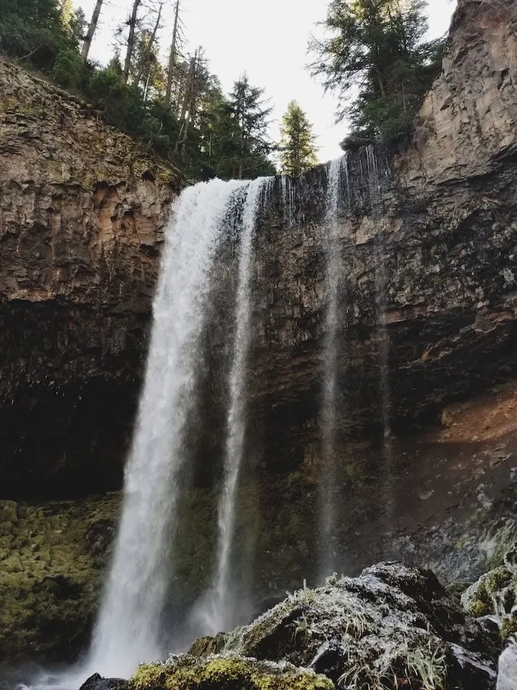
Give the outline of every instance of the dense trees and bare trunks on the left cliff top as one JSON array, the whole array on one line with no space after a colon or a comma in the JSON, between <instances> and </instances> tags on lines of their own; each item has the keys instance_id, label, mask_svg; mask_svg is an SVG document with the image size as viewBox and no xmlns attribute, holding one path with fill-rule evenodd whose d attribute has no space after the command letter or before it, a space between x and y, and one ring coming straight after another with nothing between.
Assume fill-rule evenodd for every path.
<instances>
[{"instance_id":1,"label":"dense trees and bare trunks on the left cliff top","mask_svg":"<svg viewBox=\"0 0 517 690\"><path fill-rule=\"evenodd\" d=\"M0 51L43 70L60 86L83 95L110 124L181 168L191 179L254 178L275 172L264 89L246 75L225 95L202 48L183 55L181 0L167 64L160 59L159 0L128 1L128 21L105 68L88 61L102 0L87 24L70 0L3 0ZM169 39L168 39L169 41ZM83 50L81 51L81 42Z\"/></svg>"}]
</instances>

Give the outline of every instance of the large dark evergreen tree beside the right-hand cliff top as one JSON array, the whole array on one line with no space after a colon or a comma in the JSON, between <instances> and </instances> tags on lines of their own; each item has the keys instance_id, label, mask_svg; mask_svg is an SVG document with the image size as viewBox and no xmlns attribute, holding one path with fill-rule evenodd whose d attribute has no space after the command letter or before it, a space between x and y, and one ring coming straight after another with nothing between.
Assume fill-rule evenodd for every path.
<instances>
[{"instance_id":1,"label":"large dark evergreen tree beside the right-hand cliff top","mask_svg":"<svg viewBox=\"0 0 517 690\"><path fill-rule=\"evenodd\" d=\"M349 106L358 133L391 141L405 135L441 66L443 41L426 42L425 0L332 0L324 26L330 37L312 41L310 66L325 90ZM356 92L358 91L358 95Z\"/></svg>"}]
</instances>

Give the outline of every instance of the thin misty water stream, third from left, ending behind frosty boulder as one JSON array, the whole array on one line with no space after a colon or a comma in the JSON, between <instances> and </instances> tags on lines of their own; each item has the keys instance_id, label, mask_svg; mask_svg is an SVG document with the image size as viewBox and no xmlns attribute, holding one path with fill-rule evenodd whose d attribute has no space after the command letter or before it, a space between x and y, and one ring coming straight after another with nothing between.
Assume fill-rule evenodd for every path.
<instances>
[{"instance_id":1,"label":"thin misty water stream, third from left, ending behind frosty boulder","mask_svg":"<svg viewBox=\"0 0 517 690\"><path fill-rule=\"evenodd\" d=\"M346 161L345 161L346 163ZM326 261L328 302L325 314L325 342L323 345L323 406L322 406L322 451L323 463L320 478L321 502L321 554L319 563L320 580L332 573L336 566L334 553L334 528L336 521L336 397L338 373L338 282L341 272L341 254L338 246L338 206L341 190L341 168L343 158L330 162L325 197L325 228L327 230Z\"/></svg>"}]
</instances>

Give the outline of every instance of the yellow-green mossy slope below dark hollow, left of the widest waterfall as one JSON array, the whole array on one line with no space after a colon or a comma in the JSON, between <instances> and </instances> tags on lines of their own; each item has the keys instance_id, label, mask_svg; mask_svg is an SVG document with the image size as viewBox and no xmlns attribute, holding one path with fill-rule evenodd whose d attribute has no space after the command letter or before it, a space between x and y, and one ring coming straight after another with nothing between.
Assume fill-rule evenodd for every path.
<instances>
[{"instance_id":1,"label":"yellow-green mossy slope below dark hollow, left of the widest waterfall","mask_svg":"<svg viewBox=\"0 0 517 690\"><path fill-rule=\"evenodd\" d=\"M0 501L0 660L68 660L85 644L119 495Z\"/></svg>"}]
</instances>

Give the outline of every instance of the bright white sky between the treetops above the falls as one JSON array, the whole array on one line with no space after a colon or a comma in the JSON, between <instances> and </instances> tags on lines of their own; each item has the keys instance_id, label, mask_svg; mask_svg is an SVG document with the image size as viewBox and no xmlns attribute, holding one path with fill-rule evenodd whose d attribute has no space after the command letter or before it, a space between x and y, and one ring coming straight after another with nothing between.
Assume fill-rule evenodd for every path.
<instances>
[{"instance_id":1,"label":"bright white sky between the treetops above the falls","mask_svg":"<svg viewBox=\"0 0 517 690\"><path fill-rule=\"evenodd\" d=\"M94 0L75 0L90 19ZM334 125L336 99L305 70L307 41L314 25L325 19L329 0L183 0L187 50L203 46L210 70L228 92L247 72L252 86L265 88L274 106L271 137L279 139L279 126L290 100L296 99L314 126L321 162L341 155L338 142L345 122ZM104 0L90 58L106 63L112 56L113 29L130 12L132 0ZM161 47L165 54L172 19L172 0L163 7L165 28ZM429 34L445 33L456 0L429 0ZM169 28L169 30L168 30ZM317 31L317 30L316 30Z\"/></svg>"}]
</instances>

